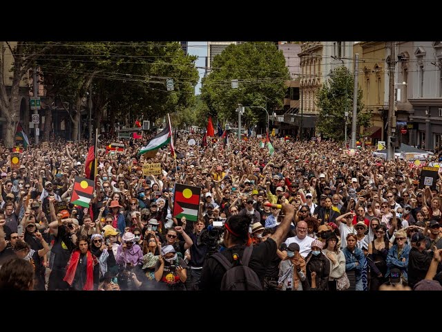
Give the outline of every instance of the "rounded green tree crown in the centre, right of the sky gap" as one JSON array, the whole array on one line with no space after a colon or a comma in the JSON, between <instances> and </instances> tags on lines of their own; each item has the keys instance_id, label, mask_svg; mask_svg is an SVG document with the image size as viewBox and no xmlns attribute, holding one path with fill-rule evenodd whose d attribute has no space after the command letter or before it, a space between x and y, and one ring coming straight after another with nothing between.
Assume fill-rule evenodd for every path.
<instances>
[{"instance_id":1,"label":"rounded green tree crown in the centre, right of the sky gap","mask_svg":"<svg viewBox=\"0 0 442 332\"><path fill-rule=\"evenodd\" d=\"M238 89L232 89L231 80L239 81ZM214 57L211 73L202 80L206 116L236 121L238 104L265 107L271 113L282 107L285 80L290 80L285 57L274 43L231 44ZM246 108L242 122L254 124L265 118L264 110Z\"/></svg>"}]
</instances>

